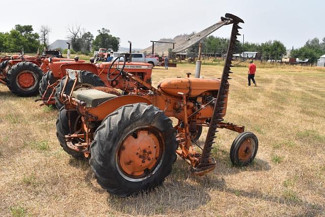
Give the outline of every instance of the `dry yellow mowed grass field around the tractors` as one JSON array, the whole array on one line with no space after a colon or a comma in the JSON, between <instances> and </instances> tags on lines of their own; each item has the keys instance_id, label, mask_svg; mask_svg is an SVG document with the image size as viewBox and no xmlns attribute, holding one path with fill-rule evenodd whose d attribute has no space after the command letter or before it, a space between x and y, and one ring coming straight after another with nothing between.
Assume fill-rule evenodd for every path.
<instances>
[{"instance_id":1,"label":"dry yellow mowed grass field around the tractors","mask_svg":"<svg viewBox=\"0 0 325 217\"><path fill-rule=\"evenodd\" d=\"M238 134L220 130L213 172L193 176L178 159L161 187L129 198L109 195L88 162L61 149L56 110L0 85L0 216L325 215L325 72L263 67L257 87L248 87L247 68L233 71L225 120L257 135L252 165L232 166L229 150ZM194 74L194 66L156 67L153 84L186 72ZM202 67L206 78L221 72L221 66Z\"/></svg>"}]
</instances>

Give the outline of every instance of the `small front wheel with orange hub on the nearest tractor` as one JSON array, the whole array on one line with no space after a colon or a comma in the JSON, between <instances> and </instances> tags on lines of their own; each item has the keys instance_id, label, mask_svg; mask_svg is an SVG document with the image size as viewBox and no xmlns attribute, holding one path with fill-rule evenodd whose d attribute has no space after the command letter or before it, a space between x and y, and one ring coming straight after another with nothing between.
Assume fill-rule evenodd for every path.
<instances>
[{"instance_id":1,"label":"small front wheel with orange hub on the nearest tractor","mask_svg":"<svg viewBox=\"0 0 325 217\"><path fill-rule=\"evenodd\" d=\"M236 166L247 166L255 158L258 140L255 134L244 132L234 140L230 149L230 160Z\"/></svg>"}]
</instances>

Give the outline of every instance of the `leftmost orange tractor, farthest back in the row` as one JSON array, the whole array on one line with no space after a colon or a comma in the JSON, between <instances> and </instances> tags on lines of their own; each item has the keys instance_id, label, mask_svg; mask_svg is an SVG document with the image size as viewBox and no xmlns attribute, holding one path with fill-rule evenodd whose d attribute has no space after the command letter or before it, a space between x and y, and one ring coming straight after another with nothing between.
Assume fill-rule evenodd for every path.
<instances>
[{"instance_id":1,"label":"leftmost orange tractor, farthest back in the row","mask_svg":"<svg viewBox=\"0 0 325 217\"><path fill-rule=\"evenodd\" d=\"M52 61L73 61L73 59L51 57ZM48 67L46 56L15 55L4 57L0 64L0 83L6 84L11 92L20 97L38 94L39 84Z\"/></svg>"}]
</instances>

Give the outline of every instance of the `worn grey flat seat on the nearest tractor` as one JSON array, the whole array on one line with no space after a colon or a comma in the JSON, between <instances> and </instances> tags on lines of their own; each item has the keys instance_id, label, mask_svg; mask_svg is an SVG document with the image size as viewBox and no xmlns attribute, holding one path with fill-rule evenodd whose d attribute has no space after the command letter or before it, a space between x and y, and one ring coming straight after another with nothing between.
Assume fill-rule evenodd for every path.
<instances>
[{"instance_id":1,"label":"worn grey flat seat on the nearest tractor","mask_svg":"<svg viewBox=\"0 0 325 217\"><path fill-rule=\"evenodd\" d=\"M117 97L114 94L108 94L97 89L77 90L73 92L72 96L77 100L85 101L87 108L96 107L107 100Z\"/></svg>"}]
</instances>

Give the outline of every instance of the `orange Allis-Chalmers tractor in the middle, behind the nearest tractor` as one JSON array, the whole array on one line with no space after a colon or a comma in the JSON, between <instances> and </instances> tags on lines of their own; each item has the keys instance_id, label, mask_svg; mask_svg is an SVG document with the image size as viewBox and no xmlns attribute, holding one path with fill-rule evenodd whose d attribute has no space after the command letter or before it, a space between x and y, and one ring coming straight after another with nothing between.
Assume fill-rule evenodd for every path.
<instances>
[{"instance_id":1,"label":"orange Allis-Chalmers tractor in the middle, behind the nearest tractor","mask_svg":"<svg viewBox=\"0 0 325 217\"><path fill-rule=\"evenodd\" d=\"M122 63L118 63L122 64ZM151 84L151 72L152 67L150 64L145 63L125 63L123 62L125 69L128 69L128 72L132 73L134 76L138 77L147 84ZM75 85L72 80L68 81L68 84L64 87L64 93L70 93L71 90L82 90L96 86L106 86L111 87L110 91L114 94L118 94L117 90L123 91L123 95L132 92L138 85L134 81L126 81L124 77L118 76L116 79L108 80L107 74L116 76L114 70L109 68L111 63L100 63L94 64L94 58L90 59L90 63L78 63L78 58L76 58L75 63L71 62L54 62L49 63L49 71L45 73L40 82L40 95L43 101L42 105L52 105L55 104L56 108L61 108L63 106L62 101L59 98L59 93L62 91L63 85L66 82L66 71L67 70L79 70L78 80ZM112 74L113 73L113 74ZM104 90L105 88L100 88ZM138 89L141 87L138 85ZM39 100L36 100L39 101Z\"/></svg>"}]
</instances>

